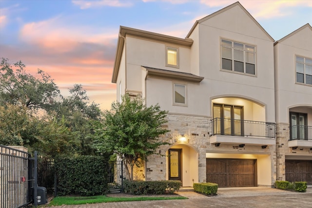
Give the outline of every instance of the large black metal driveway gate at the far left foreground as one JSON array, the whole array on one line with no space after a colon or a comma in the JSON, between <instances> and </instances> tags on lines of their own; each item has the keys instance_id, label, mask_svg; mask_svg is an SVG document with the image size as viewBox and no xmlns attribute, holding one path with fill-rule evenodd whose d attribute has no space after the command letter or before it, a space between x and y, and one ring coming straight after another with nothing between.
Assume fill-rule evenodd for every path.
<instances>
[{"instance_id":1,"label":"large black metal driveway gate at the far left foreground","mask_svg":"<svg viewBox=\"0 0 312 208\"><path fill-rule=\"evenodd\" d=\"M30 153L15 148L0 145L1 208L21 208L32 203L34 160Z\"/></svg>"}]
</instances>

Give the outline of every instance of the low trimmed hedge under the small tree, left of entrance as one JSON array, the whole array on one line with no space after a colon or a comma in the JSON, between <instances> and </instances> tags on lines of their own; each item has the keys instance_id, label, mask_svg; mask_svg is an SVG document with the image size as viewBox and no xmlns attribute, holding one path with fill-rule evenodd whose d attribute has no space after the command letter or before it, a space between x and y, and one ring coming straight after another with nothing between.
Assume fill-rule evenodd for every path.
<instances>
[{"instance_id":1,"label":"low trimmed hedge under the small tree, left of entrance","mask_svg":"<svg viewBox=\"0 0 312 208\"><path fill-rule=\"evenodd\" d=\"M168 191L173 193L182 186L181 181L123 181L123 190L125 193L134 195L140 194L163 194Z\"/></svg>"}]
</instances>

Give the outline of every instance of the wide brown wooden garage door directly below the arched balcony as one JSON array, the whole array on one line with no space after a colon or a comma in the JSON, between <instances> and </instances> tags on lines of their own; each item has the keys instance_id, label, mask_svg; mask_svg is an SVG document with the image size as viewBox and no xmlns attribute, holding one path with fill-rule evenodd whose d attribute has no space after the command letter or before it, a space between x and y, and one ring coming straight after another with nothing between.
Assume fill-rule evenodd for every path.
<instances>
[{"instance_id":1,"label":"wide brown wooden garage door directly below the arched balcony","mask_svg":"<svg viewBox=\"0 0 312 208\"><path fill-rule=\"evenodd\" d=\"M254 187L256 183L256 160L206 159L206 180L219 187Z\"/></svg>"}]
</instances>

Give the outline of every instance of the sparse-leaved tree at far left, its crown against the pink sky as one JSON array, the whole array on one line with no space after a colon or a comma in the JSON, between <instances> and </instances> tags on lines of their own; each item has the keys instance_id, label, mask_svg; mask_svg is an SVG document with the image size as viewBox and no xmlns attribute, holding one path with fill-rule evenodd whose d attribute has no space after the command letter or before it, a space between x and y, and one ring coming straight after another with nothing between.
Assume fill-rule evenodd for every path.
<instances>
[{"instance_id":1,"label":"sparse-leaved tree at far left, its crown against the pink sky","mask_svg":"<svg viewBox=\"0 0 312 208\"><path fill-rule=\"evenodd\" d=\"M14 66L14 67L13 67ZM0 63L0 104L22 105L31 110L51 110L58 98L61 98L54 80L42 70L36 78L25 72L21 61L13 66L2 58Z\"/></svg>"}]
</instances>

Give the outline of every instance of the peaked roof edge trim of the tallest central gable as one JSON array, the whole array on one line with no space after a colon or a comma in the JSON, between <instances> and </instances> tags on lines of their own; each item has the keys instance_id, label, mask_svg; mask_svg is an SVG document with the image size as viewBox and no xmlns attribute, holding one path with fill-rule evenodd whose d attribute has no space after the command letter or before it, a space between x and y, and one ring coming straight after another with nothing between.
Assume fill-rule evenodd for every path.
<instances>
[{"instance_id":1,"label":"peaked roof edge trim of the tallest central gable","mask_svg":"<svg viewBox=\"0 0 312 208\"><path fill-rule=\"evenodd\" d=\"M215 13L213 13L213 14L211 14L211 15L208 15L208 16L202 18L202 19L196 20L195 23L194 23L194 25L193 25L193 27L191 28L190 32L187 34L186 38L189 38L189 37L191 36L191 34L192 34L192 32L194 31L194 29L195 29L195 27L197 26L197 24L200 24L201 22L206 21L207 19L213 18L213 17L215 17L216 15L218 15L218 14L220 14L220 13L222 13L222 12L225 12L225 11L227 11L227 10L229 10L229 9L231 9L231 8L233 8L233 7L235 7L235 6L239 6L239 7L250 17L250 19L252 19L252 20L254 21L254 23L255 23L256 25L258 25L258 27L260 27L261 30L262 30L270 39L272 39L272 41L274 41L274 39L269 35L269 33L267 33L267 31L265 31L265 30L263 29L263 27L257 22L257 20L255 20L254 17L253 17L238 1L235 2L235 3L233 3L233 4L231 4L231 5L229 5L229 6L227 6L227 7L225 7L225 8L223 8L223 9L220 9L219 11L216 11Z\"/></svg>"}]
</instances>

